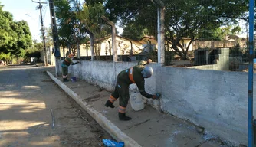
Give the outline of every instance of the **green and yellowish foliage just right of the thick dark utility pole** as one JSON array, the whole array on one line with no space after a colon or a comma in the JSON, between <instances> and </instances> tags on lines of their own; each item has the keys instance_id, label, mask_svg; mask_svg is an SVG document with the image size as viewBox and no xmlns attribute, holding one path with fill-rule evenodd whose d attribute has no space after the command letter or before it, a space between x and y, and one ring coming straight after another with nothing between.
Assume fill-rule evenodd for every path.
<instances>
[{"instance_id":1,"label":"green and yellowish foliage just right of the thick dark utility pole","mask_svg":"<svg viewBox=\"0 0 256 147\"><path fill-rule=\"evenodd\" d=\"M103 0L85 1L83 5L78 0L56 0L54 5L63 48L69 46L75 53L80 47L77 44L89 41L88 34L103 38L111 32L101 18L105 14Z\"/></svg>"}]
</instances>

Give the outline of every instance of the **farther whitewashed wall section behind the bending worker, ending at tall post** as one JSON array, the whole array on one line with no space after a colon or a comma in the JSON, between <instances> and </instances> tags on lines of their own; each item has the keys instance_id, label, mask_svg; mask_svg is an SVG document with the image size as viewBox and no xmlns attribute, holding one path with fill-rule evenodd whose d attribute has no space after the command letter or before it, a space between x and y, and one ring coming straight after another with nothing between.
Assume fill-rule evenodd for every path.
<instances>
[{"instance_id":1,"label":"farther whitewashed wall section behind the bending worker, ending at tall post","mask_svg":"<svg viewBox=\"0 0 256 147\"><path fill-rule=\"evenodd\" d=\"M75 62L75 61L74 61ZM117 62L112 61L80 61L81 64L70 66L69 73L71 75L79 77L82 80L87 80L90 83L95 83L106 90L114 90L114 86L117 82L117 75L122 70L126 70L133 67L138 62ZM60 66L61 67L61 66ZM150 67L157 69L158 64L152 64ZM60 68L61 69L61 68ZM146 79L146 83L154 83L151 87L146 87L146 90L156 92L156 76L157 72L153 74L153 77Z\"/></svg>"}]
</instances>

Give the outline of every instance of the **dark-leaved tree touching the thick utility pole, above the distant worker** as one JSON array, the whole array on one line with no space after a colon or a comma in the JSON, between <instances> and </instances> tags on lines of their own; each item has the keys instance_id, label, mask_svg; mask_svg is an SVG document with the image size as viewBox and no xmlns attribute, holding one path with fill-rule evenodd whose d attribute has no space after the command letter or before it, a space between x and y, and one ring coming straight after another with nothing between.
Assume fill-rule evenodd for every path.
<instances>
[{"instance_id":1,"label":"dark-leaved tree touching the thick utility pole, above the distant worker","mask_svg":"<svg viewBox=\"0 0 256 147\"><path fill-rule=\"evenodd\" d=\"M58 0L54 4L61 46L80 50L80 43L87 37L85 24L80 20L83 5L79 0Z\"/></svg>"}]
</instances>

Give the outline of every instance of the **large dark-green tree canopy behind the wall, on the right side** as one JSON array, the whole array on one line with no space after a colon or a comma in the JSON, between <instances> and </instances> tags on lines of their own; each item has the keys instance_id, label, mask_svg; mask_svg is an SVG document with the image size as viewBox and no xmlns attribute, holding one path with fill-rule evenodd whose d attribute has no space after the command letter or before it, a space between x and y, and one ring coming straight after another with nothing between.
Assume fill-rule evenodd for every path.
<instances>
[{"instance_id":1,"label":"large dark-green tree canopy behind the wall, on the right side","mask_svg":"<svg viewBox=\"0 0 256 147\"><path fill-rule=\"evenodd\" d=\"M239 19L247 20L248 0L162 0L166 7L165 40L171 44L170 50L175 51L182 59L187 58L192 41L200 38L200 31L215 30L222 25L235 24ZM156 22L156 5L145 0L107 0L106 11L113 21L120 20L123 26L130 21L138 21L153 34ZM148 11L146 11L148 10ZM155 23L156 24L156 23ZM201 33L202 34L202 33ZM182 38L191 38L191 42L182 46Z\"/></svg>"}]
</instances>

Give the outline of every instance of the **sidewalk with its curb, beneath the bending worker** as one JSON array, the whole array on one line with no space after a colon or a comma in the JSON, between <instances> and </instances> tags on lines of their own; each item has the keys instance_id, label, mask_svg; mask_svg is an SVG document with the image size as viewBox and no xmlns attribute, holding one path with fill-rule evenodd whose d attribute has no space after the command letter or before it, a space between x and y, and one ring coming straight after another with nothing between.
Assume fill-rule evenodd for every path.
<instances>
[{"instance_id":1,"label":"sidewalk with its curb, beneath the bending worker","mask_svg":"<svg viewBox=\"0 0 256 147\"><path fill-rule=\"evenodd\" d=\"M93 116L97 123L106 129L114 139L125 142L126 147L228 146L218 137L204 135L201 128L174 116L160 113L147 105L141 111L134 111L129 104L126 114L133 119L127 122L119 121L118 100L114 103L116 106L114 109L104 106L110 92L79 79L77 82L62 83L62 78L58 77L57 80L53 76L52 70L48 74L55 83L87 110L87 113Z\"/></svg>"}]
</instances>

